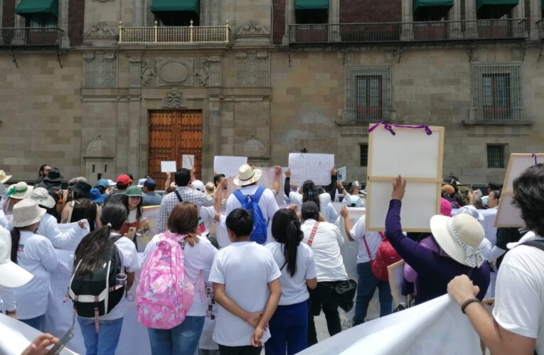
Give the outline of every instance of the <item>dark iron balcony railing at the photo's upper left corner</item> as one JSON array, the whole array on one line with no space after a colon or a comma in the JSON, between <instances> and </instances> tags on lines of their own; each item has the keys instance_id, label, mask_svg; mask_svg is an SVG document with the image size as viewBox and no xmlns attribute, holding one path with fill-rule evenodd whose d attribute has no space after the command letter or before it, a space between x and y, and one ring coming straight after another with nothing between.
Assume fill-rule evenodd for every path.
<instances>
[{"instance_id":1,"label":"dark iron balcony railing at the photo's upper left corner","mask_svg":"<svg viewBox=\"0 0 544 355\"><path fill-rule=\"evenodd\" d=\"M0 28L0 47L55 47L62 32L54 27Z\"/></svg>"}]
</instances>

